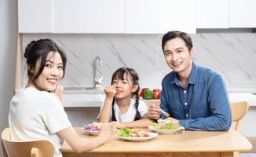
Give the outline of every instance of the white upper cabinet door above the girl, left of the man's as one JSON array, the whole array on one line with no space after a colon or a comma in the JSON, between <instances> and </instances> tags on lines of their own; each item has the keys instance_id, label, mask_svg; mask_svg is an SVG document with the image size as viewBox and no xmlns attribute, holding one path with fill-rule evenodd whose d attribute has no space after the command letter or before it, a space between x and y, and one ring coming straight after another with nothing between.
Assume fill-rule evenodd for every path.
<instances>
[{"instance_id":1,"label":"white upper cabinet door above the girl, left of the man's","mask_svg":"<svg viewBox=\"0 0 256 157\"><path fill-rule=\"evenodd\" d=\"M126 33L159 33L159 1L126 1Z\"/></svg>"}]
</instances>

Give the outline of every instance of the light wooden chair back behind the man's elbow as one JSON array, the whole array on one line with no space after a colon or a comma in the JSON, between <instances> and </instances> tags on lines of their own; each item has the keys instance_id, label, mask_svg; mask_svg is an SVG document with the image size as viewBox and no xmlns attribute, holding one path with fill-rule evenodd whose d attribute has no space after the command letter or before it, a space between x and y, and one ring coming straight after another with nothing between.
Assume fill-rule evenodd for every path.
<instances>
[{"instance_id":1,"label":"light wooden chair back behind the man's elbow","mask_svg":"<svg viewBox=\"0 0 256 157\"><path fill-rule=\"evenodd\" d=\"M242 129L243 116L247 114L249 104L246 101L231 103L232 122L236 122L235 130L240 132Z\"/></svg>"}]
</instances>

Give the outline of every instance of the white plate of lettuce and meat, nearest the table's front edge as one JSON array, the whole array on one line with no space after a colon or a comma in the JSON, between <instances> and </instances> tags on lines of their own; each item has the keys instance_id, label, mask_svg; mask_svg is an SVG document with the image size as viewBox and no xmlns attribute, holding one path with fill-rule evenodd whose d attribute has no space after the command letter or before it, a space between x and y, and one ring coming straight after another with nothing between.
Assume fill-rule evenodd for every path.
<instances>
[{"instance_id":1,"label":"white plate of lettuce and meat, nearest the table's front edge","mask_svg":"<svg viewBox=\"0 0 256 157\"><path fill-rule=\"evenodd\" d=\"M157 135L158 133L151 133L141 129L123 128L118 131L119 138L126 141L148 141L157 137Z\"/></svg>"}]
</instances>

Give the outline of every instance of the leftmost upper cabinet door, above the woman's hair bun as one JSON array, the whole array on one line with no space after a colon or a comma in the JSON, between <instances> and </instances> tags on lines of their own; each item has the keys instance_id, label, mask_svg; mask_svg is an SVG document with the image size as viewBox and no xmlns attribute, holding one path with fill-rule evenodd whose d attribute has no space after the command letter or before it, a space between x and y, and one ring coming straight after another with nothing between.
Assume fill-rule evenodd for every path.
<instances>
[{"instance_id":1,"label":"leftmost upper cabinet door, above the woman's hair bun","mask_svg":"<svg viewBox=\"0 0 256 157\"><path fill-rule=\"evenodd\" d=\"M20 33L49 33L52 31L51 0L22 0L17 2Z\"/></svg>"}]
</instances>

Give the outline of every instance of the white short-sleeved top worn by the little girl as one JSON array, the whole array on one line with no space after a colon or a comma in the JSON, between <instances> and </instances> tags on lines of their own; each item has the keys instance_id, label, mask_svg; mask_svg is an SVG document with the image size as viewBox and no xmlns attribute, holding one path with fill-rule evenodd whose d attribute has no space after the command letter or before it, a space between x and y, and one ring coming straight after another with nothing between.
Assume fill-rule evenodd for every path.
<instances>
[{"instance_id":1,"label":"white short-sleeved top worn by the little girl","mask_svg":"<svg viewBox=\"0 0 256 157\"><path fill-rule=\"evenodd\" d=\"M103 107L104 107L104 104L101 105L101 111L102 111ZM130 99L130 107L128 108L126 113L120 113L119 105L116 104L116 102L114 104L114 110L115 110L116 122L133 122L134 119L135 119L137 110L141 114L141 117L143 117L144 114L148 113L148 108L147 108L147 105L144 103L144 101L139 100L139 105L138 105L137 110L136 110L135 100L133 100L133 99ZM101 111L100 111L100 114L101 114ZM100 114L98 115L97 119L100 118ZM110 119L112 119L112 108L110 108L109 117L110 117Z\"/></svg>"}]
</instances>

